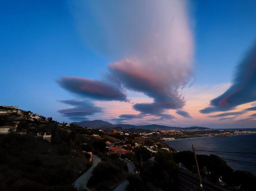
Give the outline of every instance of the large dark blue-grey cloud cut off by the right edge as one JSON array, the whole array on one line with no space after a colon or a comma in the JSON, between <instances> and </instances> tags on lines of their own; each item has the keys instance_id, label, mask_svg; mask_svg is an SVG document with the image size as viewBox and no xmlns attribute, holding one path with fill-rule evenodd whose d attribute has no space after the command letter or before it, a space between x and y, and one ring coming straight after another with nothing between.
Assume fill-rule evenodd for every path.
<instances>
[{"instance_id":1,"label":"large dark blue-grey cloud cut off by the right edge","mask_svg":"<svg viewBox=\"0 0 256 191\"><path fill-rule=\"evenodd\" d=\"M256 44L237 66L231 87L200 112L227 111L252 101L256 101Z\"/></svg>"}]
</instances>

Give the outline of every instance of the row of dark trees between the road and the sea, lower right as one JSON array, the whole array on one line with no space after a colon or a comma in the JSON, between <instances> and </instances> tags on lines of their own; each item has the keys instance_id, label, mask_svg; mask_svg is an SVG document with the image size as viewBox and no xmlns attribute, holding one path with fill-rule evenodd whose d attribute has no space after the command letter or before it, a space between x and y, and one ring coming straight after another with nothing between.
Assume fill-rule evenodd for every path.
<instances>
[{"instance_id":1,"label":"row of dark trees between the road and the sea, lower right","mask_svg":"<svg viewBox=\"0 0 256 191\"><path fill-rule=\"evenodd\" d=\"M197 155L200 174L211 180L219 183L221 178L228 188L240 186L241 191L255 190L254 183L255 175L247 171L234 171L226 161L217 155ZM174 154L174 161L182 163L190 171L195 171L194 154L192 151L182 151Z\"/></svg>"}]
</instances>

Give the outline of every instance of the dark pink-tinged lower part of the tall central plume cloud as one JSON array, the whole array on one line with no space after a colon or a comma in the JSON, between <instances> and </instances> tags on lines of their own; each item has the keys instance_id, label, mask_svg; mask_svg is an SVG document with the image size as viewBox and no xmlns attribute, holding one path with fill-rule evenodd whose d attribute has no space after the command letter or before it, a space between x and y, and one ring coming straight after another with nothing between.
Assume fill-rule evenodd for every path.
<instances>
[{"instance_id":1,"label":"dark pink-tinged lower part of the tall central plume cloud","mask_svg":"<svg viewBox=\"0 0 256 191\"><path fill-rule=\"evenodd\" d=\"M184 97L178 89L190 79L192 71L188 68L179 71L180 75L172 74L168 65L157 65L156 61L149 60L145 64L137 59L125 59L111 63L108 67L110 73L122 83L123 87L142 92L153 98L152 103L138 103L133 108L141 114L166 117L169 109L179 109L185 105ZM160 61L159 61L160 62ZM151 65L149 65L152 63ZM175 66L174 70L181 70L183 66ZM168 118L174 118L169 115Z\"/></svg>"}]
</instances>

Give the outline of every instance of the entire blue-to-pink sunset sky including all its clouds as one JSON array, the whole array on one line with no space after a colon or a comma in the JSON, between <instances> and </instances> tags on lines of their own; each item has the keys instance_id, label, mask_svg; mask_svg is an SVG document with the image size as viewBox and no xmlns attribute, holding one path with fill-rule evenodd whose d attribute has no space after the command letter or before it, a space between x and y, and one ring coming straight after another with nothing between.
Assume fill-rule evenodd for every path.
<instances>
[{"instance_id":1,"label":"entire blue-to-pink sunset sky including all its clouds","mask_svg":"<svg viewBox=\"0 0 256 191\"><path fill-rule=\"evenodd\" d=\"M0 105L73 122L256 127L256 1L2 1Z\"/></svg>"}]
</instances>

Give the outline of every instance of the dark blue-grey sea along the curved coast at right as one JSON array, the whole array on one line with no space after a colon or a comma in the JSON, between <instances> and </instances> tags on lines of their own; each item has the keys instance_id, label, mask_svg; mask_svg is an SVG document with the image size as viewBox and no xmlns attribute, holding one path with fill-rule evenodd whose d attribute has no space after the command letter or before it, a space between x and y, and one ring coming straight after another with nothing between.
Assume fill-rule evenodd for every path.
<instances>
[{"instance_id":1,"label":"dark blue-grey sea along the curved coast at right","mask_svg":"<svg viewBox=\"0 0 256 191\"><path fill-rule=\"evenodd\" d=\"M256 131L256 129L250 129L250 131ZM196 151L197 154L218 155L219 157L224 158L224 160L227 161L227 164L234 170L245 170L256 175L256 133L232 135L230 137L196 137L189 139L170 140L165 141L165 143L177 151L192 151L192 145L194 145L196 150L204 150Z\"/></svg>"}]
</instances>

